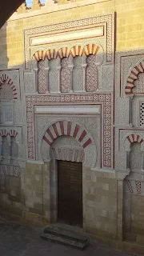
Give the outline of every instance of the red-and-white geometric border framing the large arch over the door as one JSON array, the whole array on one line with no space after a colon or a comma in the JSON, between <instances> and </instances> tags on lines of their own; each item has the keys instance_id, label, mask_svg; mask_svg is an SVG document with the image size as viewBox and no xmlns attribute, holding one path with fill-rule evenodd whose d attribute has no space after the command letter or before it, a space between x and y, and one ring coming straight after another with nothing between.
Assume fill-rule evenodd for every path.
<instances>
[{"instance_id":1,"label":"red-and-white geometric border framing the large arch over the door","mask_svg":"<svg viewBox=\"0 0 144 256\"><path fill-rule=\"evenodd\" d=\"M102 104L102 166L110 168L112 164L112 110L111 94L65 94L54 96L26 96L28 158L35 159L34 142L34 106L61 104L64 102L86 102Z\"/></svg>"}]
</instances>

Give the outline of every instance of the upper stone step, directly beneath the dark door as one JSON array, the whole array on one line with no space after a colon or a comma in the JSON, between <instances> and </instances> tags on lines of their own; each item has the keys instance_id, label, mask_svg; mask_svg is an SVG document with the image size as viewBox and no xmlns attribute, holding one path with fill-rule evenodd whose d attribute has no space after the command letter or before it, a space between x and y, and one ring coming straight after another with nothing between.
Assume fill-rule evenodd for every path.
<instances>
[{"instance_id":1,"label":"upper stone step, directly beneath the dark door","mask_svg":"<svg viewBox=\"0 0 144 256\"><path fill-rule=\"evenodd\" d=\"M78 234L72 230L67 230L62 227L58 226L48 226L44 230L45 234L54 234L55 236L61 237L61 238L66 238L69 240L73 240L75 242L80 242L83 244L89 243L89 238L86 237L83 234Z\"/></svg>"}]
</instances>

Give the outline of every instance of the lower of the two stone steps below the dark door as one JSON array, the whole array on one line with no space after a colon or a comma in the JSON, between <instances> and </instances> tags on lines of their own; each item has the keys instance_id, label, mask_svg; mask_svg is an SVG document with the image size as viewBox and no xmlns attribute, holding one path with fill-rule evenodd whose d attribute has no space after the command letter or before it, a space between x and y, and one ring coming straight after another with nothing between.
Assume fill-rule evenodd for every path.
<instances>
[{"instance_id":1,"label":"lower of the two stone steps below the dark door","mask_svg":"<svg viewBox=\"0 0 144 256\"><path fill-rule=\"evenodd\" d=\"M74 241L73 239L60 237L54 234L42 234L41 238L51 242L62 244L63 246L71 246L78 250L84 250L85 247L88 245L88 243Z\"/></svg>"}]
</instances>

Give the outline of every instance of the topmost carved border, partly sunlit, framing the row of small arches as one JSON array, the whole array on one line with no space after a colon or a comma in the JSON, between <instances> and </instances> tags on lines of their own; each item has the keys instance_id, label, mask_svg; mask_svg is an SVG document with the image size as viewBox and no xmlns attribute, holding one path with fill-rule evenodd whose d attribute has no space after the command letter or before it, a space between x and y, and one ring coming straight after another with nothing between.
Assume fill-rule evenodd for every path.
<instances>
[{"instance_id":1,"label":"topmost carved border, partly sunlit, framing the row of small arches","mask_svg":"<svg viewBox=\"0 0 144 256\"><path fill-rule=\"evenodd\" d=\"M102 24L102 26L106 26L106 37L107 37L107 44L106 44L106 62L113 62L114 61L114 14L107 14L107 15L99 15L92 18L86 18L81 20L76 20L72 22L63 22L60 24L54 24L50 26L44 26L41 28L35 28L30 30L25 30L25 66L26 69L30 69L30 37L31 35L37 36L40 34L47 34L49 35L51 32L64 32L65 30L77 30L78 29L85 29L86 26L94 27L95 24ZM76 47L76 46L75 46ZM86 46L87 47L87 46ZM78 50L81 52L82 50L79 48ZM87 51L87 50L86 50ZM89 48L89 54L94 54L98 51L98 47L94 48L92 45ZM73 53L74 50L71 50ZM66 57L66 56L65 56Z\"/></svg>"}]
</instances>

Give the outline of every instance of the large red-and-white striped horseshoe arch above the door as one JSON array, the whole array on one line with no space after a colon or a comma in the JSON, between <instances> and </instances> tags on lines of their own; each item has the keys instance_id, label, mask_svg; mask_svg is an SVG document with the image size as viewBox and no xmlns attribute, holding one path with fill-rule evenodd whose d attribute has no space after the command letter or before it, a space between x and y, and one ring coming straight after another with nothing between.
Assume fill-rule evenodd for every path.
<instances>
[{"instance_id":1,"label":"large red-and-white striped horseshoe arch above the door","mask_svg":"<svg viewBox=\"0 0 144 256\"><path fill-rule=\"evenodd\" d=\"M56 138L68 136L78 142L84 151L84 165L94 167L97 160L97 151L94 139L82 124L68 120L59 120L52 123L42 136L41 157L43 161L50 162L50 147Z\"/></svg>"}]
</instances>

